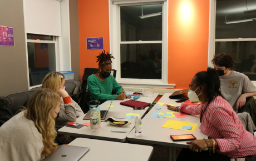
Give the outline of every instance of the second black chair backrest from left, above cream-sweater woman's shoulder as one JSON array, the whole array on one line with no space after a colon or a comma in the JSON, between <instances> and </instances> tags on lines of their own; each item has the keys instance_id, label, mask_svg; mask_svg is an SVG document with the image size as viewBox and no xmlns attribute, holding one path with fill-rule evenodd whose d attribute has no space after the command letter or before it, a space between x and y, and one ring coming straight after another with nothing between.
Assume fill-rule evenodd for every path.
<instances>
[{"instance_id":1,"label":"second black chair backrest from left, above cream-sweater woman's shoulder","mask_svg":"<svg viewBox=\"0 0 256 161\"><path fill-rule=\"evenodd\" d=\"M28 101L28 95L26 93L16 93L8 95L7 98L11 99L11 111L13 115L21 112L19 109L23 109Z\"/></svg>"}]
</instances>

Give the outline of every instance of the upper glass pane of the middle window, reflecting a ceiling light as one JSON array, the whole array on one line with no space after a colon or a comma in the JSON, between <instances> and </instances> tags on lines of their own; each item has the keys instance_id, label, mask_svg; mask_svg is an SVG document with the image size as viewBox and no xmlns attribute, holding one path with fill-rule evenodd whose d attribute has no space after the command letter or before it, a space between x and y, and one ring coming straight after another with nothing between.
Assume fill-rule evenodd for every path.
<instances>
[{"instance_id":1,"label":"upper glass pane of the middle window, reflecting a ceiling light","mask_svg":"<svg viewBox=\"0 0 256 161\"><path fill-rule=\"evenodd\" d=\"M161 41L162 6L150 4L120 7L121 41ZM142 13L144 17L149 14L152 17L141 19L139 16L142 16Z\"/></svg>"}]
</instances>

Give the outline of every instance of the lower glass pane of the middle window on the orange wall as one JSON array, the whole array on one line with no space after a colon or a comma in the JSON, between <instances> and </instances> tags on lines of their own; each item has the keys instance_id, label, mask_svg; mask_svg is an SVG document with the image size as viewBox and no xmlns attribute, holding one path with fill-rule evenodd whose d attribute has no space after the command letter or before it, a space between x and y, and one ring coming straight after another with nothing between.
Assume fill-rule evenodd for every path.
<instances>
[{"instance_id":1,"label":"lower glass pane of the middle window on the orange wall","mask_svg":"<svg viewBox=\"0 0 256 161\"><path fill-rule=\"evenodd\" d=\"M161 79L162 44L121 44L121 78Z\"/></svg>"}]
</instances>

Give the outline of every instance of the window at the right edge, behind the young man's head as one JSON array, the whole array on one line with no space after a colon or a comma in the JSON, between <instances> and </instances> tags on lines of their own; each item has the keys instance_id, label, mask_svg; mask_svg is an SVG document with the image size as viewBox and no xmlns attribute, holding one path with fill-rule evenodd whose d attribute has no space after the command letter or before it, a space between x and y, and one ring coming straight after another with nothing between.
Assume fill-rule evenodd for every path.
<instances>
[{"instance_id":1,"label":"window at the right edge, behind the young man's head","mask_svg":"<svg viewBox=\"0 0 256 161\"><path fill-rule=\"evenodd\" d=\"M250 80L256 80L256 2L215 0L214 5L216 13L212 57L218 53L230 54L234 58L234 71L244 73Z\"/></svg>"}]
</instances>

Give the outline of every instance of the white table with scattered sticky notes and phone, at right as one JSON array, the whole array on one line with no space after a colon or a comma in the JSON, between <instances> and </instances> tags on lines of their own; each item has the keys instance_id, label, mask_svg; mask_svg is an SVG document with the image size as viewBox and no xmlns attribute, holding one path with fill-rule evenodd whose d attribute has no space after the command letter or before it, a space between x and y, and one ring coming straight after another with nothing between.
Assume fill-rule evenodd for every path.
<instances>
[{"instance_id":1,"label":"white table with scattered sticky notes and phone, at right","mask_svg":"<svg viewBox=\"0 0 256 161\"><path fill-rule=\"evenodd\" d=\"M169 95L171 93L165 93L163 97L159 100L159 102L164 102L165 104L174 104L181 105L181 103L176 103L175 100L177 99L170 99ZM154 107L162 107L162 109L154 109ZM193 134L196 139L203 139L208 138L205 134L201 132L199 129L200 126L200 119L198 116L189 115L188 117L184 118L157 118L152 117L151 115L154 112L173 112L167 109L166 106L161 106L158 103L155 104L149 113L142 119L142 135L137 137L135 136L134 129L131 130L129 135L127 135L127 140L135 141L135 142L144 142L144 143L151 143L151 144L159 144L159 145L168 145L169 146L169 160L175 160L175 148L174 147L181 147L181 148L188 148L189 145L186 144L187 141L183 142L173 142L171 140L170 135L180 135L180 134ZM168 119L170 120L179 120L182 122L191 122L191 123L198 123L198 126L195 129L195 132L189 132L185 130L178 130L178 129L170 129L170 128L163 128L163 125ZM173 157L173 158L170 158Z\"/></svg>"}]
</instances>

